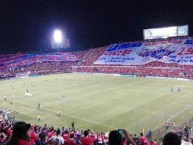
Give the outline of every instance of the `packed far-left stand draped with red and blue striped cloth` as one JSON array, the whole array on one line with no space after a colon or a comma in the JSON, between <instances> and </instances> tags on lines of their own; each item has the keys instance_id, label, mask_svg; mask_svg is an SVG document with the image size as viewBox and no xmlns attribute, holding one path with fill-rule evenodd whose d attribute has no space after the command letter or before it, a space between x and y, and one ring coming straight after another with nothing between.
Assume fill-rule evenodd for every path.
<instances>
[{"instance_id":1,"label":"packed far-left stand draped with red and blue striped cloth","mask_svg":"<svg viewBox=\"0 0 193 145\"><path fill-rule=\"evenodd\" d=\"M88 53L87 51L53 54L1 55L0 78L15 77L19 73L54 74L72 72L73 66Z\"/></svg>"}]
</instances>

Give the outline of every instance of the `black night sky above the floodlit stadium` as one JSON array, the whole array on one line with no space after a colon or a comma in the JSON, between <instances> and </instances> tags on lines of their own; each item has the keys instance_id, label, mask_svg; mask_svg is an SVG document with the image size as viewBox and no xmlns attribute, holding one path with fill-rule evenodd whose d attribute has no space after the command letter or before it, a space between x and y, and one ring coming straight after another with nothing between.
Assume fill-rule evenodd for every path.
<instances>
[{"instance_id":1,"label":"black night sky above the floodlit stadium","mask_svg":"<svg viewBox=\"0 0 193 145\"><path fill-rule=\"evenodd\" d=\"M143 39L143 29L189 25L193 0L1 0L0 53L51 48L62 29L71 50Z\"/></svg>"}]
</instances>

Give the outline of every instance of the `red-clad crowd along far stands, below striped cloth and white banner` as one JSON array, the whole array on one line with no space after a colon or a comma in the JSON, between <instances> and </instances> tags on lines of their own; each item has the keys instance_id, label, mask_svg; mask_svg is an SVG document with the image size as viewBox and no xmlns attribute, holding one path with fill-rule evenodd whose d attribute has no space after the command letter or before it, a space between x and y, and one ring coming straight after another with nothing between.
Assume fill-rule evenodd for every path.
<instances>
[{"instance_id":1,"label":"red-clad crowd along far stands, below striped cloth and white banner","mask_svg":"<svg viewBox=\"0 0 193 145\"><path fill-rule=\"evenodd\" d=\"M15 77L18 73L30 72L30 74L54 74L69 72L88 72L88 73L114 73L128 74L136 76L159 76L173 78L193 79L192 65L179 65L177 63L164 63L152 61L143 65L99 65L94 62L107 50L108 46L90 49L80 52L72 52L78 61L37 61L26 65L25 61L18 67L0 66L0 77ZM18 58L11 55L11 58ZM9 57L9 56L7 56ZM9 60L10 61L10 60ZM26 63L26 64L25 64Z\"/></svg>"}]
</instances>

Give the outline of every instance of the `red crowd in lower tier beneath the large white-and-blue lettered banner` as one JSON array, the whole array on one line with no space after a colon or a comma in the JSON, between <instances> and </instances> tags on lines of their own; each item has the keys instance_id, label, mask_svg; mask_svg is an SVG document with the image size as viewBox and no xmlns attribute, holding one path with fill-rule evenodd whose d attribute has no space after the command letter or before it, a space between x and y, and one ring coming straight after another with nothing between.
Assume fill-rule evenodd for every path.
<instances>
[{"instance_id":1,"label":"red crowd in lower tier beneath the large white-and-blue lettered banner","mask_svg":"<svg viewBox=\"0 0 193 145\"><path fill-rule=\"evenodd\" d=\"M192 66L191 69L182 68L162 68L162 67L147 67L145 66L79 66L77 72L89 73L113 73L113 74L128 74L136 76L159 76L173 78L188 78L193 79Z\"/></svg>"}]
</instances>

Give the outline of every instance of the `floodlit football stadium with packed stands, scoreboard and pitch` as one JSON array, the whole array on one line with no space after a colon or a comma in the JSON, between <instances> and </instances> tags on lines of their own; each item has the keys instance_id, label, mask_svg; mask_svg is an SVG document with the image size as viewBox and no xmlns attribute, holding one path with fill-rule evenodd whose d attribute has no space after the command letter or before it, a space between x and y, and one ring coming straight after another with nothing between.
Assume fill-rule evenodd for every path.
<instances>
[{"instance_id":1,"label":"floodlit football stadium with packed stands, scoreboard and pitch","mask_svg":"<svg viewBox=\"0 0 193 145\"><path fill-rule=\"evenodd\" d=\"M141 32L144 40L60 51L70 44L58 39L57 30L52 52L0 54L0 144L9 142L20 121L30 124L30 145L39 145L45 130L46 144L55 144L50 139L62 131L61 144L71 145L73 134L73 145L84 145L81 137L88 131L90 137L97 134L89 145L106 145L112 130L127 130L140 145L157 145L171 132L188 144L193 140L188 33L188 25L150 28ZM123 132L122 143L133 144Z\"/></svg>"}]
</instances>

